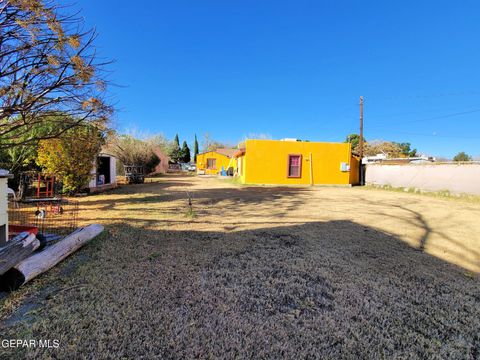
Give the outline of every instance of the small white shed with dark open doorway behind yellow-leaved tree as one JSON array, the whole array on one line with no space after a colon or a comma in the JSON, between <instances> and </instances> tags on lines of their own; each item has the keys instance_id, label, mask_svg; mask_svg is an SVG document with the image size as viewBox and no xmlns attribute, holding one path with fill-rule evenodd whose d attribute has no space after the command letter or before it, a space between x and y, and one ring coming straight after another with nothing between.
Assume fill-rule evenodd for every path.
<instances>
[{"instance_id":1,"label":"small white shed with dark open doorway behind yellow-leaved tree","mask_svg":"<svg viewBox=\"0 0 480 360\"><path fill-rule=\"evenodd\" d=\"M101 192L117 187L117 159L105 153L100 153L91 171L92 179L88 184L90 192Z\"/></svg>"}]
</instances>

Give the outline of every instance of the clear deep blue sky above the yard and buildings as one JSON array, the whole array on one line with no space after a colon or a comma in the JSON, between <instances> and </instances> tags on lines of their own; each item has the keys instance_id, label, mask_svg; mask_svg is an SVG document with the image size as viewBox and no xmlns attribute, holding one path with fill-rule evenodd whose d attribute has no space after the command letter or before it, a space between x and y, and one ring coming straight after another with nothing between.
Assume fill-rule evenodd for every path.
<instances>
[{"instance_id":1,"label":"clear deep blue sky above the yard and buildings","mask_svg":"<svg viewBox=\"0 0 480 360\"><path fill-rule=\"evenodd\" d=\"M116 127L408 141L480 156L480 2L80 0L116 61Z\"/></svg>"}]
</instances>

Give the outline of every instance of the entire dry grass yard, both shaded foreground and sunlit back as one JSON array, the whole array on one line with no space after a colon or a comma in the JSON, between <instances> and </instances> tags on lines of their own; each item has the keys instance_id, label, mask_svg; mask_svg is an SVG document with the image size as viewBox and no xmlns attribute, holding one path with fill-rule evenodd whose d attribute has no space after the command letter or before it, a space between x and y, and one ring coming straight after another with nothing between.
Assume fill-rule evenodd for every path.
<instances>
[{"instance_id":1,"label":"entire dry grass yard, both shaded foreground and sunlit back","mask_svg":"<svg viewBox=\"0 0 480 360\"><path fill-rule=\"evenodd\" d=\"M80 199L107 231L0 302L2 339L60 347L0 355L480 357L480 202L153 181Z\"/></svg>"}]
</instances>

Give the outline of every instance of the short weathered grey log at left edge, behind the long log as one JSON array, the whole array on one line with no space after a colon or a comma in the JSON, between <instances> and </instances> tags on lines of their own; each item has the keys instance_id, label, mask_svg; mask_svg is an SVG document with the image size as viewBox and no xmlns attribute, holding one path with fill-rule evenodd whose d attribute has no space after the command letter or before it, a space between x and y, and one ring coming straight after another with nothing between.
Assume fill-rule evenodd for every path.
<instances>
[{"instance_id":1,"label":"short weathered grey log at left edge, behind the long log","mask_svg":"<svg viewBox=\"0 0 480 360\"><path fill-rule=\"evenodd\" d=\"M40 246L35 234L22 232L0 248L0 275L29 257Z\"/></svg>"}]
</instances>

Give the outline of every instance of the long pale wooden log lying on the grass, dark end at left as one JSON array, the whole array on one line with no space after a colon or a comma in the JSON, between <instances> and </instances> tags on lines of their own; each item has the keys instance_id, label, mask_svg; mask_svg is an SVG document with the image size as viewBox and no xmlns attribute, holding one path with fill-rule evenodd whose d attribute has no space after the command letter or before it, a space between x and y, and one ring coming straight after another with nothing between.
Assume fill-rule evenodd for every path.
<instances>
[{"instance_id":1,"label":"long pale wooden log lying on the grass, dark end at left","mask_svg":"<svg viewBox=\"0 0 480 360\"><path fill-rule=\"evenodd\" d=\"M4 291L18 289L34 277L57 265L102 231L103 226L98 224L77 229L56 244L21 261L0 276L0 289Z\"/></svg>"}]
</instances>

